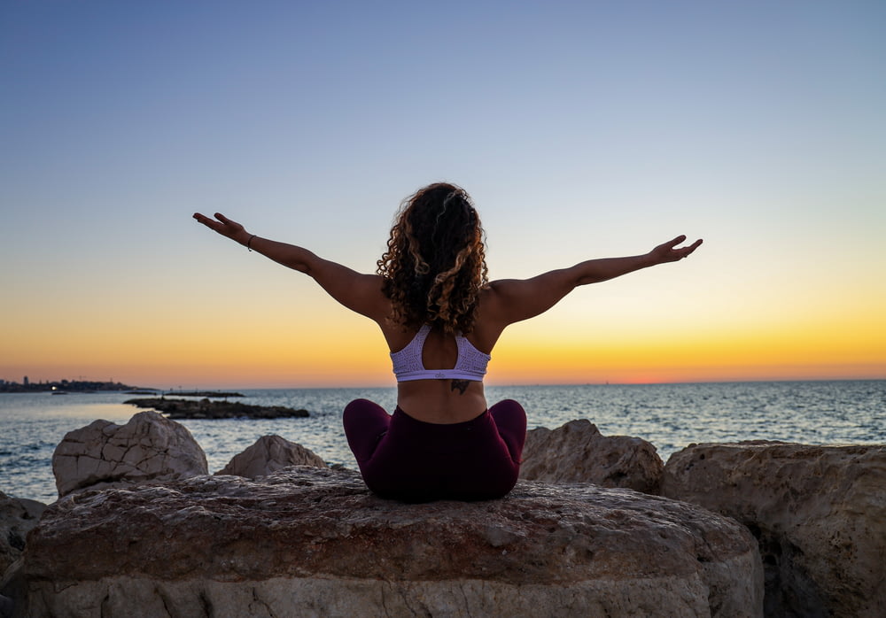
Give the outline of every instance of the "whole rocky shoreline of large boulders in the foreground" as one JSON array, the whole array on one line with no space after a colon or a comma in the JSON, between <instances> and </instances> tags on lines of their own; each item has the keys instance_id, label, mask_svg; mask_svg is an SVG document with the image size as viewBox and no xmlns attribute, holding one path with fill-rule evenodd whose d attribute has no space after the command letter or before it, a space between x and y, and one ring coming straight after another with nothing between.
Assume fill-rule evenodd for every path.
<instances>
[{"instance_id":1,"label":"whole rocky shoreline of large boulders in the foreground","mask_svg":"<svg viewBox=\"0 0 886 618\"><path fill-rule=\"evenodd\" d=\"M884 445L692 444L665 465L572 421L529 432L508 497L405 505L280 436L209 475L149 411L71 432L53 472L51 506L0 497L4 618L886 608Z\"/></svg>"}]
</instances>

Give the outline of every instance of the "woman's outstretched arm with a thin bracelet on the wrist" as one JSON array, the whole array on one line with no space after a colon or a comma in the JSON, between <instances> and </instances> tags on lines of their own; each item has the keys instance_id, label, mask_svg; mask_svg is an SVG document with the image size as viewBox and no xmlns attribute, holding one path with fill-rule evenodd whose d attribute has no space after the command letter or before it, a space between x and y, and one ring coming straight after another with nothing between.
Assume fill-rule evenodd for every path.
<instances>
[{"instance_id":1,"label":"woman's outstretched arm with a thin bracelet on the wrist","mask_svg":"<svg viewBox=\"0 0 886 618\"><path fill-rule=\"evenodd\" d=\"M273 259L284 267L313 277L323 290L342 305L373 320L384 320L389 312L381 291L382 280L376 274L361 274L329 259L323 259L304 247L279 243L269 238L250 234L237 221L229 220L220 212L210 219L199 212L194 219L207 228L237 243Z\"/></svg>"}]
</instances>

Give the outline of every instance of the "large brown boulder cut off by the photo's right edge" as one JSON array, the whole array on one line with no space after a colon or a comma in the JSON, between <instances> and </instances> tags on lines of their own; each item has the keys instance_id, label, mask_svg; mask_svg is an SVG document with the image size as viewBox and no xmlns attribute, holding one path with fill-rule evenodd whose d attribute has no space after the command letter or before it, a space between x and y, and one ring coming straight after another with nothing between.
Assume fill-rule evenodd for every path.
<instances>
[{"instance_id":1,"label":"large brown boulder cut off by the photo's right edge","mask_svg":"<svg viewBox=\"0 0 886 618\"><path fill-rule=\"evenodd\" d=\"M766 614L886 615L886 446L692 444L662 493L744 523L766 568Z\"/></svg>"}]
</instances>

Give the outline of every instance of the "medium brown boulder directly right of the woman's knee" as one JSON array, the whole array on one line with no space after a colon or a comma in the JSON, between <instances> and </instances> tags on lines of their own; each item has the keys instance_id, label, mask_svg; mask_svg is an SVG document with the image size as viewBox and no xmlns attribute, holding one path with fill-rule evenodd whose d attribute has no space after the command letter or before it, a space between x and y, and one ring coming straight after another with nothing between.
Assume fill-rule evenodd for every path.
<instances>
[{"instance_id":1,"label":"medium brown boulder directly right of the woman's knee","mask_svg":"<svg viewBox=\"0 0 886 618\"><path fill-rule=\"evenodd\" d=\"M664 464L639 437L603 436L585 419L526 432L520 478L544 483L595 483L656 495Z\"/></svg>"}]
</instances>

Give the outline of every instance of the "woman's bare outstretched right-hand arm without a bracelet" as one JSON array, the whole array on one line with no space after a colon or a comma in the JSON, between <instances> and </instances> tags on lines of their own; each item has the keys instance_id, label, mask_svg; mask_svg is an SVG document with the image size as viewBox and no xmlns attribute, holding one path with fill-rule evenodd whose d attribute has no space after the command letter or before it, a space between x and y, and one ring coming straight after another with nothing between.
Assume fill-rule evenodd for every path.
<instances>
[{"instance_id":1,"label":"woman's bare outstretched right-hand arm without a bracelet","mask_svg":"<svg viewBox=\"0 0 886 618\"><path fill-rule=\"evenodd\" d=\"M490 284L488 312L501 328L513 322L528 320L548 311L579 285L614 279L641 268L676 262L696 251L702 243L696 240L686 247L677 245L686 236L677 236L643 255L627 258L589 259L574 267L552 270L532 279L507 279ZM486 302L486 299L485 299Z\"/></svg>"}]
</instances>

